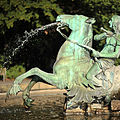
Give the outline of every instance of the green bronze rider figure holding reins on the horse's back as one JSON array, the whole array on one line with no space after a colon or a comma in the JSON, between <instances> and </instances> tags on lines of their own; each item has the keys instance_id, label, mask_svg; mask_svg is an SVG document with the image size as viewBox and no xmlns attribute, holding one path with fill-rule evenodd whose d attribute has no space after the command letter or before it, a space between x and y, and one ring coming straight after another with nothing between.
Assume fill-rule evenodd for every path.
<instances>
[{"instance_id":1,"label":"green bronze rider figure holding reins on the horse's back","mask_svg":"<svg viewBox=\"0 0 120 120\"><path fill-rule=\"evenodd\" d=\"M109 24L114 33L104 30L104 33L94 36L96 41L106 39L106 44L101 52L93 51L94 57L98 60L89 69L86 75L88 80L96 79L99 73L104 73L106 69L111 68L115 63L115 58L120 55L120 16L114 15Z\"/></svg>"}]
</instances>

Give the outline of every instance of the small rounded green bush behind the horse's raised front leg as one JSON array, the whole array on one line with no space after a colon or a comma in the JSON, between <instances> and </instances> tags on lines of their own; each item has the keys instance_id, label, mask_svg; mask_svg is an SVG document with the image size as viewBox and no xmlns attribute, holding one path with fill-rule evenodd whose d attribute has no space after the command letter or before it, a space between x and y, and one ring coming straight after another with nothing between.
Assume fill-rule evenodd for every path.
<instances>
[{"instance_id":1,"label":"small rounded green bush behind the horse's raised front leg","mask_svg":"<svg viewBox=\"0 0 120 120\"><path fill-rule=\"evenodd\" d=\"M25 68L22 65L15 65L7 70L6 76L9 79L14 79L23 73L25 73Z\"/></svg>"}]
</instances>

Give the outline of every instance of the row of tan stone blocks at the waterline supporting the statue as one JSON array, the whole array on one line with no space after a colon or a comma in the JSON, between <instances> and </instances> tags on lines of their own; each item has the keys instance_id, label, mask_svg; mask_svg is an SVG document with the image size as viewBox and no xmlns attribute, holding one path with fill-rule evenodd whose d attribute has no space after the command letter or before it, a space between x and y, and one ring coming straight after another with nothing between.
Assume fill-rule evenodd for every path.
<instances>
[{"instance_id":1,"label":"row of tan stone blocks at the waterline supporting the statue","mask_svg":"<svg viewBox=\"0 0 120 120\"><path fill-rule=\"evenodd\" d=\"M93 103L93 104L89 104L88 108L84 111L82 109L80 109L80 107L78 108L73 108L73 109L66 109L66 106L64 106L64 113L65 115L73 115L73 114L77 114L77 115L120 115L120 100L112 100L111 101L111 106L108 107L103 107L101 104L98 103Z\"/></svg>"}]
</instances>

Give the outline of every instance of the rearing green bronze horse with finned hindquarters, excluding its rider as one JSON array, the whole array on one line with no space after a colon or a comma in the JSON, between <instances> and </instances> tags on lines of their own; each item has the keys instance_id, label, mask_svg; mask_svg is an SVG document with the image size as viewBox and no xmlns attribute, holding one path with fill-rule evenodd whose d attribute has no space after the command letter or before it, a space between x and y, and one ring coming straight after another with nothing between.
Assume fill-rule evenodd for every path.
<instances>
[{"instance_id":1,"label":"rearing green bronze horse with finned hindquarters, excluding its rider","mask_svg":"<svg viewBox=\"0 0 120 120\"><path fill-rule=\"evenodd\" d=\"M59 23L57 28L59 32L64 26L68 26L72 32L69 37L65 36L66 41L58 52L56 62L53 66L53 73L46 73L37 67L32 68L15 79L7 95L16 95L21 91L19 84L23 79L32 75L38 77L33 77L23 92L24 105L27 107L30 107L33 102L30 98L30 90L41 79L60 89L67 89L69 98L67 100L67 109L74 106L74 104L92 103L96 98L98 100L104 97L107 98L108 94L118 91L120 86L119 80L113 78L110 81L112 77L116 77L116 75L112 75L114 67L112 68L112 72L110 69L106 71L108 72L107 80L84 79L94 64L94 60L91 59L89 52L89 49L94 50L91 48L94 18L88 18L83 15L60 15L56 21ZM61 32L60 34L63 35ZM104 82L105 86L102 82Z\"/></svg>"}]
</instances>

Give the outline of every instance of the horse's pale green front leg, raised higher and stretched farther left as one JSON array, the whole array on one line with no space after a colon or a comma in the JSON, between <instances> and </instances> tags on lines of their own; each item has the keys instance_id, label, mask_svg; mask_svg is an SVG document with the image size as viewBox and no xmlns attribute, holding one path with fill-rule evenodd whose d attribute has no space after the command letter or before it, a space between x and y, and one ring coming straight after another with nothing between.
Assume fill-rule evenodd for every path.
<instances>
[{"instance_id":1,"label":"horse's pale green front leg, raised higher and stretched farther left","mask_svg":"<svg viewBox=\"0 0 120 120\"><path fill-rule=\"evenodd\" d=\"M39 68L32 68L31 70L18 76L15 79L12 87L7 92L7 96L9 97L9 95L16 95L18 92L20 92L21 91L20 83L23 81L23 79L30 77L32 75L37 75L41 79L43 79L44 81L46 81L52 85L59 85L60 84L60 82L58 80L58 76L56 74L46 73L46 72L40 70ZM33 84L33 83L31 83L31 84Z\"/></svg>"}]
</instances>

